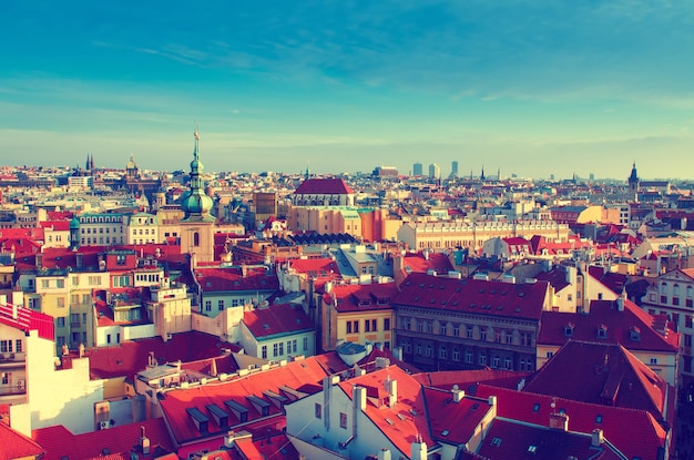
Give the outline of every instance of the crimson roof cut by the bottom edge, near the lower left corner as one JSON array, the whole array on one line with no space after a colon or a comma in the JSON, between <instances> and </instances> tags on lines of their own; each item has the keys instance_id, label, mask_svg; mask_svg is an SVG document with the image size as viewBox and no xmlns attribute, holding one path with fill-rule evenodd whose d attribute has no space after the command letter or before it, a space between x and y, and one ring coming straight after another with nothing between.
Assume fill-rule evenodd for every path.
<instances>
[{"instance_id":1,"label":"crimson roof cut by the bottom edge, near the lower left corner","mask_svg":"<svg viewBox=\"0 0 694 460\"><path fill-rule=\"evenodd\" d=\"M144 456L135 449L140 442L141 427L150 439L151 454ZM166 452L173 452L166 423L163 418L144 420L135 423L112 427L108 430L72 435L62 425L41 428L31 433L32 438L45 449L43 460L89 460L114 458L130 459L130 452L137 452L139 459L154 459ZM104 454L104 452L109 452Z\"/></svg>"}]
</instances>

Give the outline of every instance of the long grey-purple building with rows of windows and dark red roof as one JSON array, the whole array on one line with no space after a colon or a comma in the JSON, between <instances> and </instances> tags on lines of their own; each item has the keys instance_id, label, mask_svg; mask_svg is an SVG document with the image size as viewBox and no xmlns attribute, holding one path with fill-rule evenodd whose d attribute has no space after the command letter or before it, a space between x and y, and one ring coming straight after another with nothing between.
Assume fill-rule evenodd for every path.
<instances>
[{"instance_id":1,"label":"long grey-purple building with rows of windows and dark red roof","mask_svg":"<svg viewBox=\"0 0 694 460\"><path fill-rule=\"evenodd\" d=\"M529 371L549 284L511 284L411 274L394 306L397 346L422 370Z\"/></svg>"}]
</instances>

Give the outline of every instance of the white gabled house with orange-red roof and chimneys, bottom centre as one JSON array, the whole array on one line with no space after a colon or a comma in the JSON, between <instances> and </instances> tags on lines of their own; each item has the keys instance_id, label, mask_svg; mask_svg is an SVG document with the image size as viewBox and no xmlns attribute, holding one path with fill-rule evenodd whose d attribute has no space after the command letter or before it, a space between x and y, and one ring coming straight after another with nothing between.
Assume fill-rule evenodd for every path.
<instances>
[{"instance_id":1,"label":"white gabled house with orange-red roof and chimneys, bottom centre","mask_svg":"<svg viewBox=\"0 0 694 460\"><path fill-rule=\"evenodd\" d=\"M425 388L396 366L344 381L327 377L323 391L286 411L287 436L306 458L417 460L432 458L433 449L446 460L461 446L476 449L497 413L493 399Z\"/></svg>"}]
</instances>

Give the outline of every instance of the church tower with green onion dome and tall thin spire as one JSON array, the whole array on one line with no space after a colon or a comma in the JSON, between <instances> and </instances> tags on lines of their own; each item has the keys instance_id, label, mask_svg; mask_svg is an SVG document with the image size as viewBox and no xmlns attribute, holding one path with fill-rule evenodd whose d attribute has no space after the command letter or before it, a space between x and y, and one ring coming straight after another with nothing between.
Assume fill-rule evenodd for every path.
<instances>
[{"instance_id":1,"label":"church tower with green onion dome and tall thin spire","mask_svg":"<svg viewBox=\"0 0 694 460\"><path fill-rule=\"evenodd\" d=\"M214 260L214 216L212 198L205 195L205 182L201 177L204 170L200 161L200 134L195 129L195 149L191 162L190 190L181 197L181 209L184 217L181 221L181 252L194 255L197 262Z\"/></svg>"}]
</instances>

